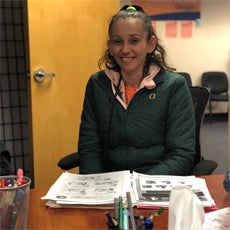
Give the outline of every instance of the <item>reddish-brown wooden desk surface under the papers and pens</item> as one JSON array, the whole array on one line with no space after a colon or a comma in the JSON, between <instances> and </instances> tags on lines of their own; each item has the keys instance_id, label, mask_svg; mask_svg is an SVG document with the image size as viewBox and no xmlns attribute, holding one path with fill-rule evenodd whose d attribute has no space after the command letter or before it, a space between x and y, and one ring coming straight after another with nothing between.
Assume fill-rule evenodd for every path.
<instances>
[{"instance_id":1,"label":"reddish-brown wooden desk surface under the papers and pens","mask_svg":"<svg viewBox=\"0 0 230 230\"><path fill-rule=\"evenodd\" d=\"M230 207L230 194L223 188L224 175L204 176L212 198L218 208ZM107 229L106 210L98 209L47 209L41 197L47 189L31 189L28 212L28 229ZM135 214L150 216L151 210L135 209ZM111 210L113 214L113 210ZM168 212L155 218L154 230L167 230Z\"/></svg>"}]
</instances>

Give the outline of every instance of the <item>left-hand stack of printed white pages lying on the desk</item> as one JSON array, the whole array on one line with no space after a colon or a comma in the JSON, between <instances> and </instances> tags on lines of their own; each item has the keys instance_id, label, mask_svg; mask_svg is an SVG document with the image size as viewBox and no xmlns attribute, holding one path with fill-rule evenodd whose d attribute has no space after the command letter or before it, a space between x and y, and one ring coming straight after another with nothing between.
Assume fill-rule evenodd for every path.
<instances>
[{"instance_id":1,"label":"left-hand stack of printed white pages lying on the desk","mask_svg":"<svg viewBox=\"0 0 230 230\"><path fill-rule=\"evenodd\" d=\"M127 191L130 191L129 171L87 175L64 172L42 199L57 204L109 204L115 197L125 197Z\"/></svg>"}]
</instances>

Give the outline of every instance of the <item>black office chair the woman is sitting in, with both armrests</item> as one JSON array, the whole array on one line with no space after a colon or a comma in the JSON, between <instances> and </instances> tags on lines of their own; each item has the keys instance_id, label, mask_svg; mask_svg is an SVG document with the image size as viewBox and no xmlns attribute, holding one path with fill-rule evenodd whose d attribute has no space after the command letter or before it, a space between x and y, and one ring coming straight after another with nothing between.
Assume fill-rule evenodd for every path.
<instances>
[{"instance_id":1,"label":"black office chair the woman is sitting in, with both armrests","mask_svg":"<svg viewBox=\"0 0 230 230\"><path fill-rule=\"evenodd\" d=\"M207 88L199 86L189 86L190 93L192 95L195 118L196 118L196 155L195 155L195 167L191 174L195 176L209 175L217 167L217 163L212 160L205 160L201 156L200 148L200 129L203 122L204 111L208 103L210 92ZM79 166L79 154L77 152L71 153L63 157L58 166L63 170L70 170Z\"/></svg>"}]
</instances>

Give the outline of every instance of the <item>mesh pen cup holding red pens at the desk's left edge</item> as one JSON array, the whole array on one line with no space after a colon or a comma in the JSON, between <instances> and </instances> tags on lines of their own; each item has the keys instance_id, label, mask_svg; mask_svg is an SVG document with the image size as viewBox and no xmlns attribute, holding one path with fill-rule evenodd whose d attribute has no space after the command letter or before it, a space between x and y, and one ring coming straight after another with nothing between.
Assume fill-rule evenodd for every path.
<instances>
[{"instance_id":1,"label":"mesh pen cup holding red pens at the desk's left edge","mask_svg":"<svg viewBox=\"0 0 230 230\"><path fill-rule=\"evenodd\" d=\"M0 229L26 229L31 179L17 176L0 177Z\"/></svg>"}]
</instances>

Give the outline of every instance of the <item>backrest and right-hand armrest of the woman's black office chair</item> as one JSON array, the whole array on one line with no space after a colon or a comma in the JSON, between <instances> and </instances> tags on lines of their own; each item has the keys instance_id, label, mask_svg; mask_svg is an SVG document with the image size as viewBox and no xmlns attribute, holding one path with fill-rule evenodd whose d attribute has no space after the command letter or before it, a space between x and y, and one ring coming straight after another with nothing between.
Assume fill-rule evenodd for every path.
<instances>
[{"instance_id":1,"label":"backrest and right-hand armrest of the woman's black office chair","mask_svg":"<svg viewBox=\"0 0 230 230\"><path fill-rule=\"evenodd\" d=\"M195 176L210 175L217 168L217 163L213 160L204 159L201 154L200 146L200 130L203 124L205 108L209 101L210 91L201 86L189 86L189 89L193 99L196 120L195 167L191 174Z\"/></svg>"}]
</instances>

